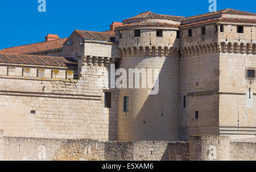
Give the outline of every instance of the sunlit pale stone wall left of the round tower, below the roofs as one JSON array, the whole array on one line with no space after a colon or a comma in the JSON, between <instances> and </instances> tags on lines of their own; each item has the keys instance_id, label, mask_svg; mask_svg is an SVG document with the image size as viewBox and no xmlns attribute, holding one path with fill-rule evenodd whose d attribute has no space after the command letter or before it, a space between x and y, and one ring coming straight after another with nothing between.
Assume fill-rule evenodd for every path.
<instances>
[{"instance_id":1,"label":"sunlit pale stone wall left of the round tower, below the roofs","mask_svg":"<svg viewBox=\"0 0 256 172\"><path fill-rule=\"evenodd\" d=\"M112 108L105 108L104 92L110 91L106 65L86 66L79 80L66 77L69 69L46 68L45 78L39 78L36 68L23 76L22 67L9 75L6 68L0 68L4 136L117 140L118 92L111 91Z\"/></svg>"}]
</instances>

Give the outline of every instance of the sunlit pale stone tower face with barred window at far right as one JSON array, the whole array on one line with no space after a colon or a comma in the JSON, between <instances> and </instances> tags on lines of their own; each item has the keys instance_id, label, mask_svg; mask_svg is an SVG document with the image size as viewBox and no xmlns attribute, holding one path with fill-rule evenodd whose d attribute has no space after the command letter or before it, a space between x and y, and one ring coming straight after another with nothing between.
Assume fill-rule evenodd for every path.
<instances>
[{"instance_id":1,"label":"sunlit pale stone tower face with barred window at far right","mask_svg":"<svg viewBox=\"0 0 256 172\"><path fill-rule=\"evenodd\" d=\"M246 70L255 68L255 27L224 25L218 33L220 53L220 134L250 137L256 133L255 82L246 79Z\"/></svg>"}]
</instances>

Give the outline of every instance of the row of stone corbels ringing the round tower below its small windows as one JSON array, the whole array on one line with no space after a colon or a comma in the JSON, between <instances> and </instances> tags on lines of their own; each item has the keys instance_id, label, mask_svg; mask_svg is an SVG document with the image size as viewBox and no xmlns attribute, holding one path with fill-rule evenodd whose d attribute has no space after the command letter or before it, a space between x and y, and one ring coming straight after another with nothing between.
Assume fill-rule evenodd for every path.
<instances>
[{"instance_id":1,"label":"row of stone corbels ringing the round tower below its small windows","mask_svg":"<svg viewBox=\"0 0 256 172\"><path fill-rule=\"evenodd\" d=\"M133 48L119 48L120 57L177 57L179 48L168 46L140 46Z\"/></svg>"}]
</instances>

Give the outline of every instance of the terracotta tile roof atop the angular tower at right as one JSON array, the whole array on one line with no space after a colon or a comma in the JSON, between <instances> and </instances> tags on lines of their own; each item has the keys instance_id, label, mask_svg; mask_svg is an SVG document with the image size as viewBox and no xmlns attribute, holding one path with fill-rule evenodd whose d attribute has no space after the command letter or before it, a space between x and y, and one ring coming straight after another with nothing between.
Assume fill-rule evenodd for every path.
<instances>
[{"instance_id":1,"label":"terracotta tile roof atop the angular tower at right","mask_svg":"<svg viewBox=\"0 0 256 172\"><path fill-rule=\"evenodd\" d=\"M216 15L216 14L232 14L232 15L256 16L256 14L252 13L252 12L245 12L245 11L239 11L239 10L233 10L233 9L227 8L225 10L220 10L220 11L216 11L216 12L208 12L206 14L201 14L201 15L195 15L195 16L187 17L183 21L187 21L187 20L191 20L191 19L197 19L197 18L203 18L205 16L211 16L211 15Z\"/></svg>"}]
</instances>

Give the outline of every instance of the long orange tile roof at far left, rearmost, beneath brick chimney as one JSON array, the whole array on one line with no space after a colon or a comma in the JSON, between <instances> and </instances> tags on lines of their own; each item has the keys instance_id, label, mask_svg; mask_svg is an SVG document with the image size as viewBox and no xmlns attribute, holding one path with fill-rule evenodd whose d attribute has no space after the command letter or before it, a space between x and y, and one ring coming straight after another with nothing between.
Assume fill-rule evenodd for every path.
<instances>
[{"instance_id":1,"label":"long orange tile roof at far left, rearmost, beneath brick chimney","mask_svg":"<svg viewBox=\"0 0 256 172\"><path fill-rule=\"evenodd\" d=\"M39 42L39 43L35 43L35 44L15 46L12 48L2 49L2 50L0 50L0 53L30 54L30 53L37 53L40 51L61 49L61 48L63 48L63 44L67 39L68 38L62 38L60 40L53 40L53 41Z\"/></svg>"}]
</instances>

